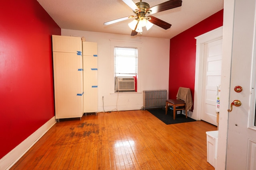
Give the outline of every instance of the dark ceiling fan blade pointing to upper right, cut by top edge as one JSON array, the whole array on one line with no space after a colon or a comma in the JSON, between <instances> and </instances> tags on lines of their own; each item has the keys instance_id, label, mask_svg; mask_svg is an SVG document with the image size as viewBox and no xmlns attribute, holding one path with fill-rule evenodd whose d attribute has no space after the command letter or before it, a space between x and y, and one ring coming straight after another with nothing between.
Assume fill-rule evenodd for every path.
<instances>
[{"instance_id":1,"label":"dark ceiling fan blade pointing to upper right, cut by top edge","mask_svg":"<svg viewBox=\"0 0 256 170\"><path fill-rule=\"evenodd\" d=\"M156 6L148 8L146 10L146 12L148 12L149 14L155 14L157 12L170 10L172 8L179 7L179 6L181 6L181 4L182 4L182 0L169 0L169 1L166 1L162 4L158 4Z\"/></svg>"}]
</instances>

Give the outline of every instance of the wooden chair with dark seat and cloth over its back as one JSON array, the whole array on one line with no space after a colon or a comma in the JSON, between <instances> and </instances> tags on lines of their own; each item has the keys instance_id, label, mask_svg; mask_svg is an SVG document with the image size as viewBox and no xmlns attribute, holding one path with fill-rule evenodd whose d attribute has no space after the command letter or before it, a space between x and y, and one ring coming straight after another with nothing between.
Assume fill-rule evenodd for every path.
<instances>
[{"instance_id":1,"label":"wooden chair with dark seat and cloth over its back","mask_svg":"<svg viewBox=\"0 0 256 170\"><path fill-rule=\"evenodd\" d=\"M168 105L171 105L173 109L174 120L176 116L176 110L185 110L186 118L188 118L188 110L190 110L193 105L190 88L180 87L176 97L176 99L166 100L165 114L167 114Z\"/></svg>"}]
</instances>

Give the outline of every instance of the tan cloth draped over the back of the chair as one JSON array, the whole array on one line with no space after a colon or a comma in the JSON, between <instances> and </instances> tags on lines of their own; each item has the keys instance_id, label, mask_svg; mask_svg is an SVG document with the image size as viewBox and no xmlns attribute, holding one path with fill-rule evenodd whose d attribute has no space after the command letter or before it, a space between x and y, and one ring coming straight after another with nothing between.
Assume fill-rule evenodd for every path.
<instances>
[{"instance_id":1,"label":"tan cloth draped over the back of the chair","mask_svg":"<svg viewBox=\"0 0 256 170\"><path fill-rule=\"evenodd\" d=\"M193 106L190 88L180 87L176 97L181 99L181 100L184 100L184 102L186 104L186 110L187 111L190 110L191 107Z\"/></svg>"}]
</instances>

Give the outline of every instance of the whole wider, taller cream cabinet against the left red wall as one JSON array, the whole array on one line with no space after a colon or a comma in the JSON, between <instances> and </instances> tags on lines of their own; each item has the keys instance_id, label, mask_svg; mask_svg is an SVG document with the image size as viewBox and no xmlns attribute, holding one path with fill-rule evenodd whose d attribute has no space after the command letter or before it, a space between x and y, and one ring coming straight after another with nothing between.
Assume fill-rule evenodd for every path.
<instances>
[{"instance_id":1,"label":"whole wider, taller cream cabinet against the left red wall","mask_svg":"<svg viewBox=\"0 0 256 170\"><path fill-rule=\"evenodd\" d=\"M52 35L55 118L84 114L82 40Z\"/></svg>"}]
</instances>

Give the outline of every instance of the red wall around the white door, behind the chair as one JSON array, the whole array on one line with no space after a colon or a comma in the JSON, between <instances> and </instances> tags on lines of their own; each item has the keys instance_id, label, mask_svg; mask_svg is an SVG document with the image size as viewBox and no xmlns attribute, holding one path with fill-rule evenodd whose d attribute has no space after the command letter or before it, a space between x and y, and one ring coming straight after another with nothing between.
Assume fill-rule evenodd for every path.
<instances>
[{"instance_id":1,"label":"red wall around the white door, behind the chair","mask_svg":"<svg viewBox=\"0 0 256 170\"><path fill-rule=\"evenodd\" d=\"M196 68L195 37L222 25L223 10L220 10L170 39L169 99L176 98L179 87L186 87L190 88L194 102Z\"/></svg>"}]
</instances>

